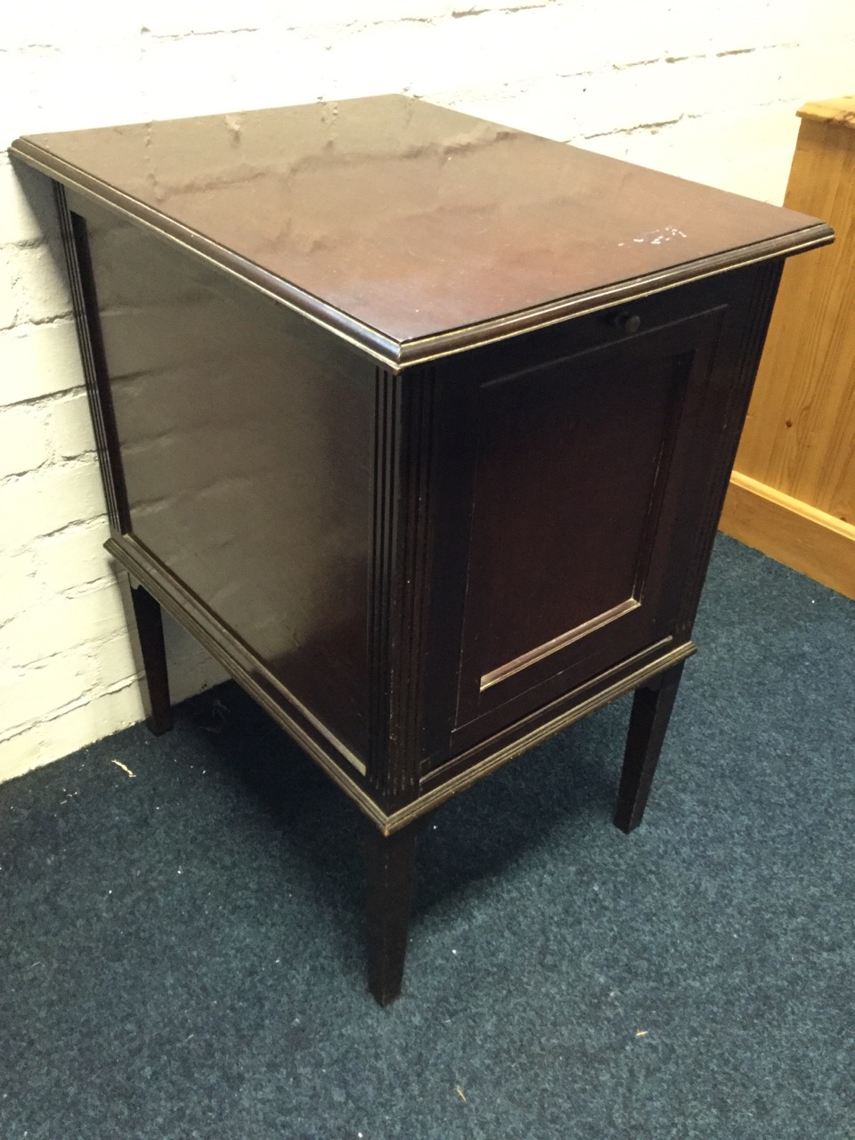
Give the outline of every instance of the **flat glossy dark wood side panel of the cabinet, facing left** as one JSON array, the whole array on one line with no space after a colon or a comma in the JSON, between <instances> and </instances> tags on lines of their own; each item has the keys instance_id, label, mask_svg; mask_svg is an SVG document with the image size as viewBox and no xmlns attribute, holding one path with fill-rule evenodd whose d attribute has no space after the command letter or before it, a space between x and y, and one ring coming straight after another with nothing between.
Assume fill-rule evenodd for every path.
<instances>
[{"instance_id":1,"label":"flat glossy dark wood side panel of the cabinet, facing left","mask_svg":"<svg viewBox=\"0 0 855 1140\"><path fill-rule=\"evenodd\" d=\"M373 365L82 209L130 532L365 758Z\"/></svg>"}]
</instances>

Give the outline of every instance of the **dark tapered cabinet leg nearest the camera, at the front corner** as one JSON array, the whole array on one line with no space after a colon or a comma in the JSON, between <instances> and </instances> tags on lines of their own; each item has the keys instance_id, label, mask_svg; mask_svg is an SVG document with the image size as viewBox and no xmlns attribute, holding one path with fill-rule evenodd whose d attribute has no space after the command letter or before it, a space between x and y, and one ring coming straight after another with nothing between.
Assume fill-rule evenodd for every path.
<instances>
[{"instance_id":1,"label":"dark tapered cabinet leg nearest the camera, at the front corner","mask_svg":"<svg viewBox=\"0 0 855 1140\"><path fill-rule=\"evenodd\" d=\"M401 992L416 836L424 823L416 820L392 836L383 836L369 823L365 837L368 988L381 1005L388 1005Z\"/></svg>"}]
</instances>

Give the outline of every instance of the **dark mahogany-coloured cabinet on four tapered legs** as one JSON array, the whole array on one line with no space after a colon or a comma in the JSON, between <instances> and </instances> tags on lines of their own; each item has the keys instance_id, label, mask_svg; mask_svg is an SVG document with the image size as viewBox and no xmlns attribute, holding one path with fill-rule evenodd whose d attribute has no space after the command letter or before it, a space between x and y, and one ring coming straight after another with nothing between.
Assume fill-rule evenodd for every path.
<instances>
[{"instance_id":1,"label":"dark mahogany-coloured cabinet on four tapered legs","mask_svg":"<svg viewBox=\"0 0 855 1140\"><path fill-rule=\"evenodd\" d=\"M397 96L18 140L56 182L150 724L165 606L353 799L370 986L439 804L635 690L641 820L815 219Z\"/></svg>"}]
</instances>

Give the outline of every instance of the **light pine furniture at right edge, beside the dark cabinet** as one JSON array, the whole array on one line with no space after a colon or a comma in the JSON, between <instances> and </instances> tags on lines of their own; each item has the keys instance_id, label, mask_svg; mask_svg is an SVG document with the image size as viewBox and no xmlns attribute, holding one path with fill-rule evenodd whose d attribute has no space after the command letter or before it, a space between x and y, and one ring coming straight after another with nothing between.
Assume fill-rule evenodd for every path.
<instances>
[{"instance_id":1,"label":"light pine furniture at right edge, beside the dark cabinet","mask_svg":"<svg viewBox=\"0 0 855 1140\"><path fill-rule=\"evenodd\" d=\"M799 114L785 202L837 242L784 269L720 527L855 597L855 97Z\"/></svg>"}]
</instances>

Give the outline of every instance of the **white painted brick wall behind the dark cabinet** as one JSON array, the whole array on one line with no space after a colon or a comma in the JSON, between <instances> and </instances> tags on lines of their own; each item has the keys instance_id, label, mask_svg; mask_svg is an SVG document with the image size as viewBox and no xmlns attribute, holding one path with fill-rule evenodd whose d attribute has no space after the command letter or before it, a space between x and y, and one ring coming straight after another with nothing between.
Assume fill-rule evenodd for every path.
<instances>
[{"instance_id":1,"label":"white painted brick wall behind the dark cabinet","mask_svg":"<svg viewBox=\"0 0 855 1140\"><path fill-rule=\"evenodd\" d=\"M852 0L65 0L0 15L19 133L401 90L780 202ZM51 195L0 154L0 779L142 715ZM219 668L171 621L178 699Z\"/></svg>"}]
</instances>

